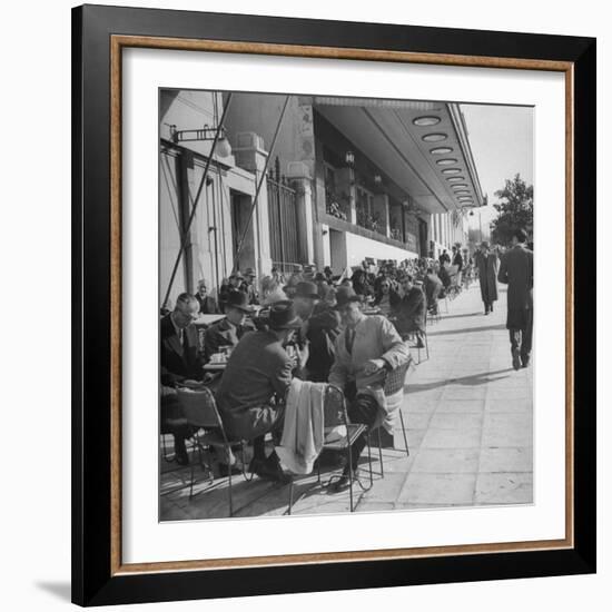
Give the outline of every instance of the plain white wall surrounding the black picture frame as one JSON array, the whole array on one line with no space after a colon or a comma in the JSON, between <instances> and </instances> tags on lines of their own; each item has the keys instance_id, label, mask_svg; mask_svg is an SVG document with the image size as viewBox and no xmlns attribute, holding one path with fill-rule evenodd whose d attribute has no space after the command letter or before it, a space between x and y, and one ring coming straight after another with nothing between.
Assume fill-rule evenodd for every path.
<instances>
[{"instance_id":1,"label":"plain white wall surrounding the black picture frame","mask_svg":"<svg viewBox=\"0 0 612 612\"><path fill-rule=\"evenodd\" d=\"M324 0L288 3L280 0L227 0L223 8L200 0L113 0L115 4L148 6L189 10L223 10L257 14L283 14L318 19L386 21L422 26L549 32L598 36L598 87L600 131L599 185L604 193L606 169L612 154L606 144L612 139L612 32L605 2L583 0L580 7L561 3L551 12L547 2L515 0L505 9L490 2L440 0L427 2L332 3ZM0 302L3 320L14 317L14 296L31 295L20 300L21 320L40 322L45 297L43 340L40 325L6 325L1 359L7 384L2 404L28 411L36 427L28 432L26 451L22 435L4 435L4 503L0 509L2 556L0 565L3 608L11 612L70 611L70 16L77 2L6 3L2 17L6 28L0 45L2 71L7 83L2 96L2 167L4 206L0 225L0 255L4 298ZM512 8L512 10L510 10ZM36 16L36 18L34 18ZM23 43L23 27L28 39ZM305 83L305 88L308 83ZM23 128L37 126L36 138L24 138ZM37 166L23 162L31 158L32 144L52 142L52 155ZM36 178L33 182L32 176ZM24 188L45 186L45 197L24 203ZM608 261L605 236L612 227L612 207L600 198L598 207L599 256ZM593 203L594 209L594 203ZM24 238L23 228L27 228ZM76 254L75 254L76 255ZM105 283L100 278L100 283ZM612 284L599 283L599 534L598 575L561 576L535 580L457 583L359 591L338 591L274 598L227 599L203 602L119 605L112 612L293 612L343 610L351 612L427 610L432 612L593 612L610 609L612 599L612 387L606 374L612 371ZM24 342L27 339L28 342ZM32 347L43 346L46 357L36 375L28 367ZM594 367L594 364L592 364ZM27 389L27 394L24 393ZM595 409L590 406L589 409Z\"/></svg>"}]
</instances>

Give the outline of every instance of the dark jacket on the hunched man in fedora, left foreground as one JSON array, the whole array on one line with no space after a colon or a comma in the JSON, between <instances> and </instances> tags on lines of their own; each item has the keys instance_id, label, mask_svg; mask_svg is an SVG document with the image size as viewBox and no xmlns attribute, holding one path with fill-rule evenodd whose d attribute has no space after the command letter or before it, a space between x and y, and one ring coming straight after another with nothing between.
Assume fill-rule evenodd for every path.
<instances>
[{"instance_id":1,"label":"dark jacket on the hunched man in fedora, left foreground","mask_svg":"<svg viewBox=\"0 0 612 612\"><path fill-rule=\"evenodd\" d=\"M246 334L233 351L217 402L228 431L248 436L253 418L249 409L282 399L292 382L294 362L272 332Z\"/></svg>"}]
</instances>

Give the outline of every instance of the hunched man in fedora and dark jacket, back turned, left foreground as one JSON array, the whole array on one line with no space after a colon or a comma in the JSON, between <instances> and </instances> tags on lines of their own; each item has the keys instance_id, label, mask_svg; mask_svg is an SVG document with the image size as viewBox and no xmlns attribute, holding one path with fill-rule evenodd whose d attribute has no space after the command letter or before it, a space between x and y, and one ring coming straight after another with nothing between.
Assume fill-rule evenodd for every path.
<instances>
[{"instance_id":1,"label":"hunched man in fedora and dark jacket, back turned, left foreground","mask_svg":"<svg viewBox=\"0 0 612 612\"><path fill-rule=\"evenodd\" d=\"M231 353L217 392L229 438L253 441L249 471L263 478L286 480L276 453L266 457L264 436L282 430L296 366L285 347L302 324L290 302L273 304L266 327L246 334Z\"/></svg>"}]
</instances>

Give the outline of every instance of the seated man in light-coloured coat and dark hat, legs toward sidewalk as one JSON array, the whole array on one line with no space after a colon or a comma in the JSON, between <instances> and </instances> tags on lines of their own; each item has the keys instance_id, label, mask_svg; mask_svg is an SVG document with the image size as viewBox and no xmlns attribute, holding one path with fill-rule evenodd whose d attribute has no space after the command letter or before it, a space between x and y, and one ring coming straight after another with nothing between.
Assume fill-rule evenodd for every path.
<instances>
[{"instance_id":1,"label":"seated man in light-coloured coat and dark hat, legs toward sidewalk","mask_svg":"<svg viewBox=\"0 0 612 612\"><path fill-rule=\"evenodd\" d=\"M336 338L336 361L329 373L329 383L345 391L351 422L372 427L386 415L384 395L379 403L382 374L405 364L409 359L409 349L388 319L364 315L362 298L355 292L340 287L336 300L345 328ZM375 388L378 393L373 392ZM349 484L349 471L356 471L366 443L365 434L353 443L353 464L345 466L340 480L334 485L335 491Z\"/></svg>"}]
</instances>

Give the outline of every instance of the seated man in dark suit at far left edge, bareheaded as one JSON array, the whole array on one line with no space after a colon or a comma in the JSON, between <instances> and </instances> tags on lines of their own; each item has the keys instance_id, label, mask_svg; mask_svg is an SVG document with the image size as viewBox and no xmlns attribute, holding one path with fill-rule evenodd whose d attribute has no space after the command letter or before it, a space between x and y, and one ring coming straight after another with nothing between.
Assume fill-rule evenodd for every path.
<instances>
[{"instance_id":1,"label":"seated man in dark suit at far left edge, bareheaded","mask_svg":"<svg viewBox=\"0 0 612 612\"><path fill-rule=\"evenodd\" d=\"M194 325L198 310L198 302L193 295L180 294L175 309L161 319L159 326L161 433L174 435L176 460L180 465L189 463L185 440L191 435L191 430L184 418L174 387L186 379L199 381L204 374Z\"/></svg>"}]
</instances>

